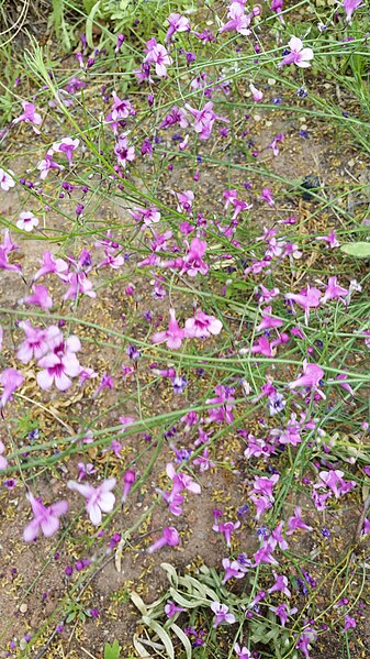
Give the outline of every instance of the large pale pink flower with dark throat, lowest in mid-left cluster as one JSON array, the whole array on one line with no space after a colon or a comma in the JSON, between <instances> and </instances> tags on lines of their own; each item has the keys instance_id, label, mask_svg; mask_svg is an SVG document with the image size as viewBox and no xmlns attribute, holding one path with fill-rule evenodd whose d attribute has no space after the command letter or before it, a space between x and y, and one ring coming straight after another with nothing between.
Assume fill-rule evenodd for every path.
<instances>
[{"instance_id":1,"label":"large pale pink flower with dark throat, lowest in mid-left cluster","mask_svg":"<svg viewBox=\"0 0 370 659\"><path fill-rule=\"evenodd\" d=\"M36 375L36 381L42 389L49 389L53 384L65 392L71 385L70 377L76 377L80 373L80 363L76 352L81 349L80 340L75 337L68 337L60 340L52 352L38 361L38 366L43 369Z\"/></svg>"}]
</instances>

